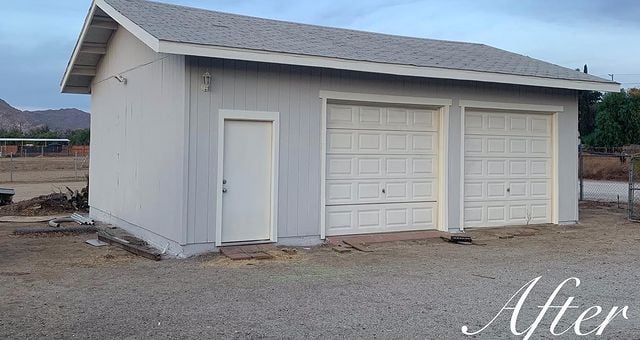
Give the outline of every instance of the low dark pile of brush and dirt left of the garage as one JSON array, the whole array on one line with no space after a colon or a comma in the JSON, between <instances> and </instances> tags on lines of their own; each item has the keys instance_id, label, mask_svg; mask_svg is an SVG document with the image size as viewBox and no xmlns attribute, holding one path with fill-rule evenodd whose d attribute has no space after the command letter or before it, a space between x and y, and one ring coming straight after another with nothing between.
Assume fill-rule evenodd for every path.
<instances>
[{"instance_id":1,"label":"low dark pile of brush and dirt left of the garage","mask_svg":"<svg viewBox=\"0 0 640 340\"><path fill-rule=\"evenodd\" d=\"M0 207L0 216L44 216L75 211L65 194L53 193Z\"/></svg>"}]
</instances>

